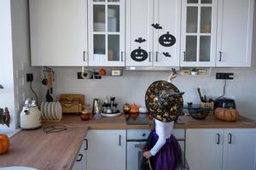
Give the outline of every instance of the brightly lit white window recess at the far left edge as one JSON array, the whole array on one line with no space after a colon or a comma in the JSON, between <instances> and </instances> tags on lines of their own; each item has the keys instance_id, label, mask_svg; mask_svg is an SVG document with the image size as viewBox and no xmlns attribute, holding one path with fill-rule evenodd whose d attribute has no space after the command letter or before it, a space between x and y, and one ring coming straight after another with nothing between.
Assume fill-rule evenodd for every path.
<instances>
[{"instance_id":1,"label":"brightly lit white window recess at the far left edge","mask_svg":"<svg viewBox=\"0 0 256 170\"><path fill-rule=\"evenodd\" d=\"M13 77L13 54L12 54L12 33L10 1L0 1L0 83L3 89L0 89L0 107L8 107L10 113L15 112L15 94ZM11 115L11 128L15 128L13 123L15 116ZM0 125L0 129L7 128Z\"/></svg>"}]
</instances>

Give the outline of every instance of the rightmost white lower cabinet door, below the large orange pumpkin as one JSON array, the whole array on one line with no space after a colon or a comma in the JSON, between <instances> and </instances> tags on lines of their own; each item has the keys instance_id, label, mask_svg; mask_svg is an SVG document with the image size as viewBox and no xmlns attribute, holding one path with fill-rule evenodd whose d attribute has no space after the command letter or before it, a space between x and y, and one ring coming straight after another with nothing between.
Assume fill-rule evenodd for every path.
<instances>
[{"instance_id":1,"label":"rightmost white lower cabinet door, below the large orange pumpkin","mask_svg":"<svg viewBox=\"0 0 256 170\"><path fill-rule=\"evenodd\" d=\"M256 169L256 130L224 130L224 170Z\"/></svg>"}]
</instances>

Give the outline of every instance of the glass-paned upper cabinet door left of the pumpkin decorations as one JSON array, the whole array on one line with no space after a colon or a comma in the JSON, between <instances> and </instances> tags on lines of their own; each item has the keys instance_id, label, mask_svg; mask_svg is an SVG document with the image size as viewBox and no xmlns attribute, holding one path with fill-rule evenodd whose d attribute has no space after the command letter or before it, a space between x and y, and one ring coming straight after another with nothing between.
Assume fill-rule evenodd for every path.
<instances>
[{"instance_id":1,"label":"glass-paned upper cabinet door left of the pumpkin decorations","mask_svg":"<svg viewBox=\"0 0 256 170\"><path fill-rule=\"evenodd\" d=\"M125 66L125 0L88 1L90 66Z\"/></svg>"}]
</instances>

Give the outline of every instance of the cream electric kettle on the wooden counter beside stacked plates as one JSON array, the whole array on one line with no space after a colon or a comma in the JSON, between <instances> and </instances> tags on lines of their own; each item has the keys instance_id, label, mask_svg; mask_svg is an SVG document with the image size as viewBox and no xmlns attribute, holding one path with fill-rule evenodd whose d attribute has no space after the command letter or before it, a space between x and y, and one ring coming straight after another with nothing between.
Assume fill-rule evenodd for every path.
<instances>
[{"instance_id":1,"label":"cream electric kettle on the wooden counter beside stacked plates","mask_svg":"<svg viewBox=\"0 0 256 170\"><path fill-rule=\"evenodd\" d=\"M38 127L41 127L41 112L34 99L26 99L20 112L20 128L35 129Z\"/></svg>"}]
</instances>

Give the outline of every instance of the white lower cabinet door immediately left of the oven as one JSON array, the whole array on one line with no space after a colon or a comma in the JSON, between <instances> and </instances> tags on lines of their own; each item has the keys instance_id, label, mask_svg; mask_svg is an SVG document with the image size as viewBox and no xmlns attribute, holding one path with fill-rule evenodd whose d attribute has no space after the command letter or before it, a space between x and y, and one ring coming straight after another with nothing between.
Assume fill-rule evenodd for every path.
<instances>
[{"instance_id":1,"label":"white lower cabinet door immediately left of the oven","mask_svg":"<svg viewBox=\"0 0 256 170\"><path fill-rule=\"evenodd\" d=\"M87 139L87 169L125 170L125 130L90 130Z\"/></svg>"}]
</instances>

